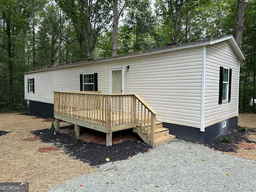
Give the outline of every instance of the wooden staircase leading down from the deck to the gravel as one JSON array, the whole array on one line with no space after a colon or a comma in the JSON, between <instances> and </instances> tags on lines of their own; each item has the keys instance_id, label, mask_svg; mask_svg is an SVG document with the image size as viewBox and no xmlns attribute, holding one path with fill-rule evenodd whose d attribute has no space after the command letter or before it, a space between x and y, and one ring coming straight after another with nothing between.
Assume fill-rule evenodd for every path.
<instances>
[{"instance_id":1,"label":"wooden staircase leading down from the deck to the gravel","mask_svg":"<svg viewBox=\"0 0 256 192\"><path fill-rule=\"evenodd\" d=\"M149 145L152 145L150 122L151 120L146 120L146 121L142 120L142 122L139 121L139 125L136 126L136 128L134 128L134 132L136 132L144 142L146 142ZM169 134L169 129L164 128L162 122L156 121L154 138L155 138L155 142L153 147L158 147L166 142L174 140L176 136Z\"/></svg>"}]
</instances>

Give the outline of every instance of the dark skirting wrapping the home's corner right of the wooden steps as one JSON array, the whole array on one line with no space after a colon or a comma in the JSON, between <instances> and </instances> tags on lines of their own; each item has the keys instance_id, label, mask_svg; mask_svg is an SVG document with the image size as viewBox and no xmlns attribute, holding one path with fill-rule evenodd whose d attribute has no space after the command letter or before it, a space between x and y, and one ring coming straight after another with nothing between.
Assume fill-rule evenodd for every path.
<instances>
[{"instance_id":1,"label":"dark skirting wrapping the home's corner right of the wooden steps","mask_svg":"<svg viewBox=\"0 0 256 192\"><path fill-rule=\"evenodd\" d=\"M177 124L163 123L163 126L168 128L169 133L175 135L177 139L204 144L220 134L224 134L230 130L235 129L237 127L237 120L237 117L227 119L226 127L222 127L222 121L212 126L206 127L205 132L201 132L199 128Z\"/></svg>"}]
</instances>

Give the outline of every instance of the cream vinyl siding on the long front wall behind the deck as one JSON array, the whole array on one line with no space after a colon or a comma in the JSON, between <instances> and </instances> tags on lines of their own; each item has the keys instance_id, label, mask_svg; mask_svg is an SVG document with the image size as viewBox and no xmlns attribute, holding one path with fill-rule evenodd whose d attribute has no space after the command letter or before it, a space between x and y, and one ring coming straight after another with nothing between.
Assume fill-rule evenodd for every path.
<instances>
[{"instance_id":1,"label":"cream vinyl siding on the long front wall behind the deck","mask_svg":"<svg viewBox=\"0 0 256 192\"><path fill-rule=\"evenodd\" d=\"M98 91L110 93L110 69L125 68L124 93L139 94L160 115L157 120L200 128L202 47L26 73L36 94L25 99L53 104L53 91L79 91L79 74L98 73ZM25 87L26 90L26 87Z\"/></svg>"}]
</instances>

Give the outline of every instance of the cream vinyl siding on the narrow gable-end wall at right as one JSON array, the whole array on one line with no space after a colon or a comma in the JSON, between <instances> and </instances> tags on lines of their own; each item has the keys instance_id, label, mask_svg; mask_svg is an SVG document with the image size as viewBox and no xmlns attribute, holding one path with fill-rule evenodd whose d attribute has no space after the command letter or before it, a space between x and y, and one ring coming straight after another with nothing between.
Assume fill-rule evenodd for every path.
<instances>
[{"instance_id":1,"label":"cream vinyl siding on the narrow gable-end wall at right","mask_svg":"<svg viewBox=\"0 0 256 192\"><path fill-rule=\"evenodd\" d=\"M220 66L232 69L231 101L218 104ZM227 42L206 48L204 126L238 116L239 59ZM228 89L228 87L227 87Z\"/></svg>"}]
</instances>

